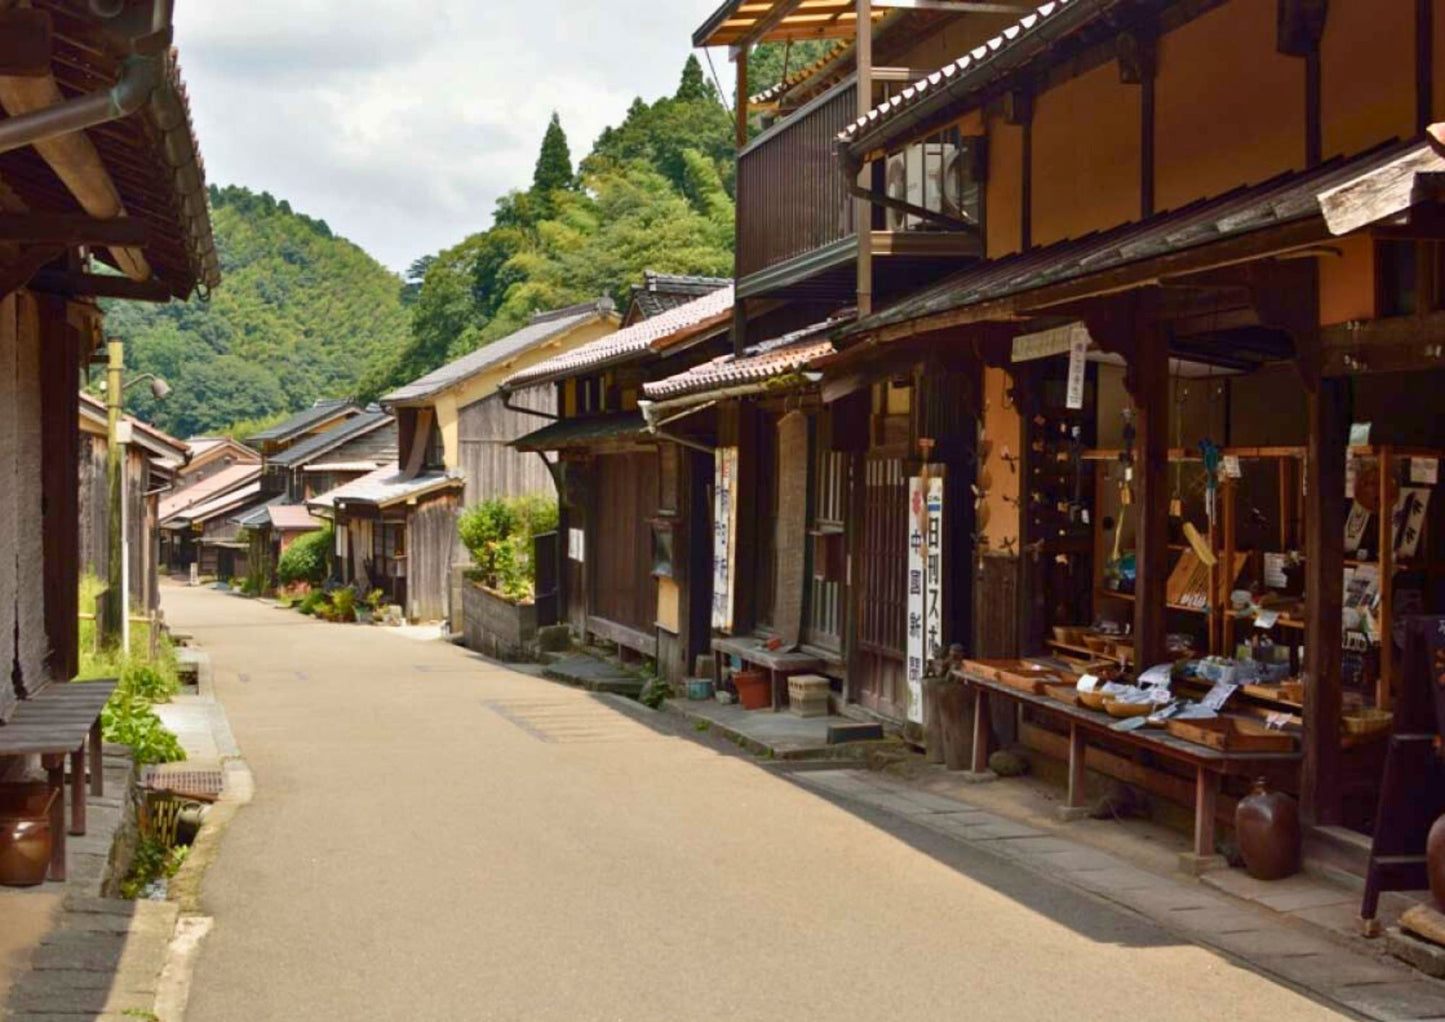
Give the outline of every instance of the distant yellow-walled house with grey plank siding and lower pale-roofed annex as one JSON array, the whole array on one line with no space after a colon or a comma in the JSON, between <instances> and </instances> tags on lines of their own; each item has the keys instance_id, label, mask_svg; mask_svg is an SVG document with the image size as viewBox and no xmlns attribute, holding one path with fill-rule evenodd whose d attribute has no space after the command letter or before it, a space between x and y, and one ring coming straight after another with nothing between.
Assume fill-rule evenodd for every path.
<instances>
[{"instance_id":1,"label":"distant yellow-walled house with grey plank siding and lower pale-roofed annex","mask_svg":"<svg viewBox=\"0 0 1445 1022\"><path fill-rule=\"evenodd\" d=\"M556 493L542 458L510 442L556 416L556 392L499 393L501 382L617 330L610 299L542 312L517 332L381 399L396 415L399 457L312 499L337 523L342 581L380 588L413 620L451 617L457 513L494 496Z\"/></svg>"}]
</instances>

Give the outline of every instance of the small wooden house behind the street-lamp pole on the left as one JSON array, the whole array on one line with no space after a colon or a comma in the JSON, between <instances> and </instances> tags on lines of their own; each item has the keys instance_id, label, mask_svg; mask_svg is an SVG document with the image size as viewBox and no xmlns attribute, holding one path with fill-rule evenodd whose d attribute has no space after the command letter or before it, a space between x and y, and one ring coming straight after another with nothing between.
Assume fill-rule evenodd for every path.
<instances>
[{"instance_id":1,"label":"small wooden house behind the street-lamp pole on the left","mask_svg":"<svg viewBox=\"0 0 1445 1022\"><path fill-rule=\"evenodd\" d=\"M79 406L79 544L81 570L105 578L110 567L108 419L104 402L81 393ZM191 448L147 422L124 416L131 439L126 445L126 526L130 535L131 607L155 610L159 559L160 494L176 486ZM91 610L85 607L84 610Z\"/></svg>"}]
</instances>

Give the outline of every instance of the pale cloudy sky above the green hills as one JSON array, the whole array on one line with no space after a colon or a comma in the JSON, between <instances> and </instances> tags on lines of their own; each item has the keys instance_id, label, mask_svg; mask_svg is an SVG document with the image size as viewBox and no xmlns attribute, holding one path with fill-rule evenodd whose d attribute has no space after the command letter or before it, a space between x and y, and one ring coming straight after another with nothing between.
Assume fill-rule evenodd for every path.
<instances>
[{"instance_id":1,"label":"pale cloudy sky above the green hills","mask_svg":"<svg viewBox=\"0 0 1445 1022\"><path fill-rule=\"evenodd\" d=\"M175 22L207 179L285 198L402 272L530 184L553 110L579 159L634 97L672 93L715 6L192 0Z\"/></svg>"}]
</instances>

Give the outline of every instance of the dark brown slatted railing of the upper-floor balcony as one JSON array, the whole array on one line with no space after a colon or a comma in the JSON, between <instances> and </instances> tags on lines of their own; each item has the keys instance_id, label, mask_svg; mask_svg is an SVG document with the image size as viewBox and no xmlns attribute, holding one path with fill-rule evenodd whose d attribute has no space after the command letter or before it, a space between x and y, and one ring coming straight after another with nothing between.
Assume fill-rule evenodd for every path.
<instances>
[{"instance_id":1,"label":"dark brown slatted railing of the upper-floor balcony","mask_svg":"<svg viewBox=\"0 0 1445 1022\"><path fill-rule=\"evenodd\" d=\"M834 142L855 108L848 78L757 136L738 155L740 279L853 237L854 202Z\"/></svg>"}]
</instances>

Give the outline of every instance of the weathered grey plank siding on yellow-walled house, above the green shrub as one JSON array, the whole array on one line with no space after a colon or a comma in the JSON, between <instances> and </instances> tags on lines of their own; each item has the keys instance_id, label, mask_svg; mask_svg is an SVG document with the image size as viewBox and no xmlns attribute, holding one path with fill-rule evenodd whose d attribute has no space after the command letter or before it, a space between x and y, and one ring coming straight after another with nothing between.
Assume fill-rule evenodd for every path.
<instances>
[{"instance_id":1,"label":"weathered grey plank siding on yellow-walled house, above the green shrub","mask_svg":"<svg viewBox=\"0 0 1445 1022\"><path fill-rule=\"evenodd\" d=\"M519 390L512 402L543 412L556 411L556 389L552 386ZM488 497L555 496L552 473L542 458L517 451L510 442L540 429L546 419L506 408L501 395L483 398L461 409L460 468L467 478L467 503Z\"/></svg>"}]
</instances>

